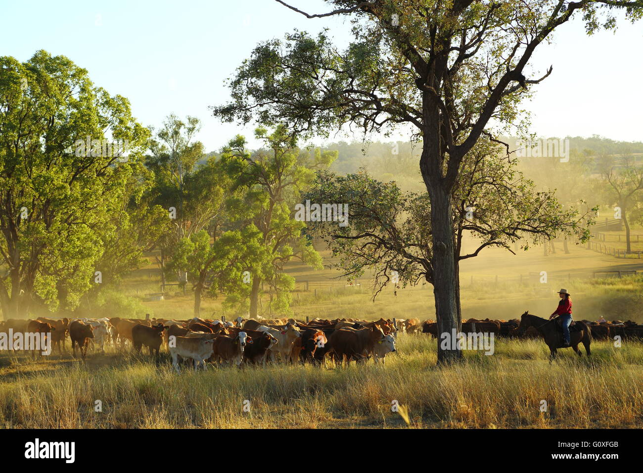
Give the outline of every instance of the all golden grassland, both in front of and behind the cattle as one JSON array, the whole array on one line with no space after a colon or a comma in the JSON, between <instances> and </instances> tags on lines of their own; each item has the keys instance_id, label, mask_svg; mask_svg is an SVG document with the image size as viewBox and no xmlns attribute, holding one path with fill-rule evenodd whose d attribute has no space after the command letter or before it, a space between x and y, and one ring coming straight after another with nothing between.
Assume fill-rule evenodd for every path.
<instances>
[{"instance_id":1,"label":"all golden grassland, both in front of and behind the cattle","mask_svg":"<svg viewBox=\"0 0 643 473\"><path fill-rule=\"evenodd\" d=\"M575 319L602 315L643 322L643 274L591 277L597 268L638 266L579 246L570 250L544 256L536 248L511 257L489 252L467 260L460 277L463 317L512 319L525 310L547 316L556 307L557 290L565 287L572 293ZM158 292L151 269L136 272L123 285L122 292L138 301L134 315L191 317L189 291L146 301L146 293ZM291 307L298 319L435 318L428 285L387 288L373 301L367 278L347 287L327 268L312 271L292 264L287 271L298 281ZM541 271L547 272L546 283L534 277ZM307 292L303 281L309 281ZM317 292L314 283L320 284ZM204 299L201 314L224 314L221 302ZM266 299L268 315L265 311ZM210 366L206 372L180 375L172 371L167 353L157 365L147 356L113 349L105 355L90 351L85 363L71 355L32 362L5 352L0 354L0 426L643 427L643 344L638 342L624 342L621 348L593 342L592 357L563 350L553 364L541 340L496 339L494 355L469 351L462 364L449 367L435 366L436 351L437 342L428 335L400 335L397 352L387 355L385 366L372 361L348 368L332 363L242 370ZM408 423L391 411L394 400L408 409ZM102 403L100 412L96 401Z\"/></svg>"}]
</instances>

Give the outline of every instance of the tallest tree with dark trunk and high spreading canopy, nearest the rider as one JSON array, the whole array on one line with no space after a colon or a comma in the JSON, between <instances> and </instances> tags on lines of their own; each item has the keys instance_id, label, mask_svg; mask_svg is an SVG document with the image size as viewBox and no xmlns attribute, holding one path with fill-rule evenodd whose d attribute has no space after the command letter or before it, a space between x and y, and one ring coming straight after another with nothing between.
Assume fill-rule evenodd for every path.
<instances>
[{"instance_id":1,"label":"tallest tree with dark trunk and high spreading canopy, nearest the rider","mask_svg":"<svg viewBox=\"0 0 643 473\"><path fill-rule=\"evenodd\" d=\"M421 136L436 317L440 332L457 329L453 188L464 156L482 136L497 139L520 125L518 105L552 71L532 79L527 66L558 26L582 15L588 32L613 28L611 10L624 8L634 21L643 2L327 0L334 10L308 14L277 1L309 18L351 16L353 41L338 51L326 32L294 32L284 42L259 44L231 79L232 101L213 113L224 120L285 122L298 133L404 125ZM438 360L461 356L439 349Z\"/></svg>"}]
</instances>

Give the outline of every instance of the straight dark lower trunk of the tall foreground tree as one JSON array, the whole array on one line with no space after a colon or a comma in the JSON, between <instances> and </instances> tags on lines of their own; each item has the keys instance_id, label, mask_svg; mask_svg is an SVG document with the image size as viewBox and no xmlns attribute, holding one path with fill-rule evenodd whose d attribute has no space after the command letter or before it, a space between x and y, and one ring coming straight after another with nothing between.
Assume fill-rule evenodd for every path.
<instances>
[{"instance_id":1,"label":"straight dark lower trunk of the tall foreground tree","mask_svg":"<svg viewBox=\"0 0 643 473\"><path fill-rule=\"evenodd\" d=\"M453 241L453 207L450 192L442 186L431 186L431 230L433 232L433 295L435 318L438 324L438 364L462 359L457 346L442 349L442 337L451 337L451 331L460 331L458 319L458 278ZM444 335L446 334L446 335Z\"/></svg>"}]
</instances>

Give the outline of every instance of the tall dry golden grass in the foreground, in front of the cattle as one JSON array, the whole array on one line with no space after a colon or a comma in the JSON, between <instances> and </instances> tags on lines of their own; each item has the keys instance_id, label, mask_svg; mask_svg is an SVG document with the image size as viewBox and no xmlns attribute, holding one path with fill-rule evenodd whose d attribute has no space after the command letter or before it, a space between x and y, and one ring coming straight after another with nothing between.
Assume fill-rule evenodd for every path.
<instances>
[{"instance_id":1,"label":"tall dry golden grass in the foreground, in front of the cattle","mask_svg":"<svg viewBox=\"0 0 643 473\"><path fill-rule=\"evenodd\" d=\"M167 354L83 364L0 358L0 425L56 428L643 427L643 346L592 344L549 364L539 340L496 340L436 367L435 340L401 335L385 366L213 368L176 375ZM95 411L96 400L102 412ZM248 400L249 412L244 412ZM390 409L408 408L407 425ZM542 401L547 411L541 412Z\"/></svg>"}]
</instances>

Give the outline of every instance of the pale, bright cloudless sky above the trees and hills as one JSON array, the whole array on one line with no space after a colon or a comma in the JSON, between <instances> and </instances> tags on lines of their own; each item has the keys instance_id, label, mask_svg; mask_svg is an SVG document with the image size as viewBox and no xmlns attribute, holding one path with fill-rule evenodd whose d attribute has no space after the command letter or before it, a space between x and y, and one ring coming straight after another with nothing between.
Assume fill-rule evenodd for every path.
<instances>
[{"instance_id":1,"label":"pale, bright cloudless sky above the trees and hills","mask_svg":"<svg viewBox=\"0 0 643 473\"><path fill-rule=\"evenodd\" d=\"M322 0L290 3L308 13L330 10ZM208 106L228 101L224 80L258 42L294 28L329 28L340 46L350 39L347 19L307 19L273 0L0 0L0 19L0 55L21 61L40 49L65 55L96 85L129 98L143 125L158 129L170 113L200 118L197 138L208 151L236 134L252 136L252 125L222 124ZM554 67L523 104L532 113L531 131L643 141L643 21L621 19L616 33L592 36L574 21L554 40L539 46L531 61L534 76ZM258 145L253 139L249 144Z\"/></svg>"}]
</instances>

